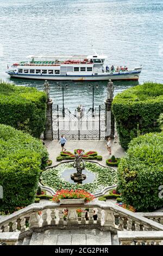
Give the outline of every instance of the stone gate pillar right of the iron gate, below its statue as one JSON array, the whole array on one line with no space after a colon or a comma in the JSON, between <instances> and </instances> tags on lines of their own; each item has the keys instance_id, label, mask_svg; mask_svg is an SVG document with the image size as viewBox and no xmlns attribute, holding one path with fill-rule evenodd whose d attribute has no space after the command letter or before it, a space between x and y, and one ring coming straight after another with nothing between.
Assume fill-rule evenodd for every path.
<instances>
[{"instance_id":1,"label":"stone gate pillar right of the iron gate, below its statue","mask_svg":"<svg viewBox=\"0 0 163 256\"><path fill-rule=\"evenodd\" d=\"M105 133L105 139L108 137L114 138L114 130L115 130L115 120L114 120L114 114L111 111L111 103L112 99L107 99L105 102L105 108L106 108L106 133Z\"/></svg>"}]
</instances>

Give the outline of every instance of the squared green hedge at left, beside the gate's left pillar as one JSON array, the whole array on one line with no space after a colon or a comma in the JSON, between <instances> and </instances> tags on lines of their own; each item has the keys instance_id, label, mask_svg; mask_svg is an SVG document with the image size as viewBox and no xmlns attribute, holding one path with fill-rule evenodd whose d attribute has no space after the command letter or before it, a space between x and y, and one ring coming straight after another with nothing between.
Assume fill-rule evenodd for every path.
<instances>
[{"instance_id":1,"label":"squared green hedge at left, beside the gate's left pillar","mask_svg":"<svg viewBox=\"0 0 163 256\"><path fill-rule=\"evenodd\" d=\"M46 94L0 82L0 123L40 138L45 128Z\"/></svg>"}]
</instances>

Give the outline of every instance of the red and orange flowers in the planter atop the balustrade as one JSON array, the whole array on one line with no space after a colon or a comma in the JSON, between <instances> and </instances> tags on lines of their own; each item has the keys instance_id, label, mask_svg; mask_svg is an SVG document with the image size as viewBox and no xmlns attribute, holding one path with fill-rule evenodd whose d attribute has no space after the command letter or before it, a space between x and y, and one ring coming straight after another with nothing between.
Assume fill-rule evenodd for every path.
<instances>
[{"instance_id":1,"label":"red and orange flowers in the planter atop the balustrade","mask_svg":"<svg viewBox=\"0 0 163 256\"><path fill-rule=\"evenodd\" d=\"M95 197L87 191L84 190L59 190L53 196L54 202L59 202L60 199L84 199L85 202L90 202Z\"/></svg>"}]
</instances>

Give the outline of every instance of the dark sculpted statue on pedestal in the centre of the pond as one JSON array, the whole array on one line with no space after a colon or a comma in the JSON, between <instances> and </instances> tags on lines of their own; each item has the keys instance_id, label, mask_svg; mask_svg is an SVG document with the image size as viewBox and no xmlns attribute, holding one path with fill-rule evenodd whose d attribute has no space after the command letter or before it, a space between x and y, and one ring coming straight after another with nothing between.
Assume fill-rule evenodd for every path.
<instances>
[{"instance_id":1,"label":"dark sculpted statue on pedestal in the centre of the pond","mask_svg":"<svg viewBox=\"0 0 163 256\"><path fill-rule=\"evenodd\" d=\"M83 152L80 154L76 154L76 158L73 162L73 167L77 168L77 173L71 174L71 179L74 182L82 183L83 180L86 179L86 175L82 173L82 170L85 169L85 163L82 159ZM83 165L81 165L81 162Z\"/></svg>"}]
</instances>

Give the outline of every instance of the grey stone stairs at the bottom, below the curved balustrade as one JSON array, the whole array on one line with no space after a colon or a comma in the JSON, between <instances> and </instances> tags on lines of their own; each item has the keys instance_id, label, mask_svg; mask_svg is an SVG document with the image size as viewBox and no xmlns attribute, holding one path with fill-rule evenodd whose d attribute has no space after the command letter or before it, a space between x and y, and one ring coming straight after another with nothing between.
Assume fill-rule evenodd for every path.
<instances>
[{"instance_id":1,"label":"grey stone stairs at the bottom, below the curved balustrade","mask_svg":"<svg viewBox=\"0 0 163 256\"><path fill-rule=\"evenodd\" d=\"M16 245L119 245L116 235L98 229L51 229L33 232L31 237L18 240Z\"/></svg>"}]
</instances>

